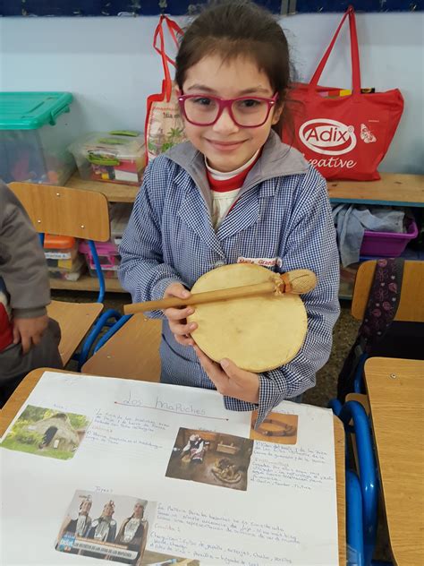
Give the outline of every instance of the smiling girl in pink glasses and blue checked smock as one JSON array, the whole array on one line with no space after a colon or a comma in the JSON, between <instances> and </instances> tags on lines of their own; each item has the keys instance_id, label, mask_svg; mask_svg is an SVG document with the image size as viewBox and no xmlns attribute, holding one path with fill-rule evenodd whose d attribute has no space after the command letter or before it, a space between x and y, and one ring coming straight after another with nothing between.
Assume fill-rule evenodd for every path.
<instances>
[{"instance_id":1,"label":"smiling girl in pink glasses and blue checked smock","mask_svg":"<svg viewBox=\"0 0 424 566\"><path fill-rule=\"evenodd\" d=\"M326 181L280 141L289 56L274 17L251 2L212 4L191 23L175 81L189 142L149 163L121 245L120 279L134 302L186 298L208 270L262 260L306 268L307 338L292 362L250 373L216 364L191 339L193 308L167 309L161 381L216 388L232 410L259 409L315 384L339 313L339 263Z\"/></svg>"}]
</instances>

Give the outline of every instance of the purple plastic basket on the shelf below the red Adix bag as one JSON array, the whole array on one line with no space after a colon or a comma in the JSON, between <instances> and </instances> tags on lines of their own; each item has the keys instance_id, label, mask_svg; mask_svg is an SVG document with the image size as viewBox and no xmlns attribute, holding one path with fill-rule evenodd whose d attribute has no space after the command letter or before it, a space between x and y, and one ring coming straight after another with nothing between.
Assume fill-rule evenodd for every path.
<instances>
[{"instance_id":1,"label":"purple plastic basket on the shelf below the red Adix bag","mask_svg":"<svg viewBox=\"0 0 424 566\"><path fill-rule=\"evenodd\" d=\"M401 255L406 244L418 236L418 227L413 219L410 219L407 229L408 231L404 234L365 230L360 246L360 255L375 257L397 257Z\"/></svg>"}]
</instances>

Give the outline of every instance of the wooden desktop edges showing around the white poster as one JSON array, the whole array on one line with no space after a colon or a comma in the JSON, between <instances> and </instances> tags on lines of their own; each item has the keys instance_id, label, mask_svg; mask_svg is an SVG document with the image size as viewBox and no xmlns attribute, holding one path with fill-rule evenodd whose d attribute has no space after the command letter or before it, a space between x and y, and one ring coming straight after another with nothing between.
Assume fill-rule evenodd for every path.
<instances>
[{"instance_id":1,"label":"wooden desktop edges showing around the white poster","mask_svg":"<svg viewBox=\"0 0 424 566\"><path fill-rule=\"evenodd\" d=\"M37 385L38 380L46 369L38 369L30 372L14 391L13 396L7 401L3 409L0 409L0 435L10 425L13 417L26 401L30 392ZM58 370L51 370L58 372ZM72 373L72 372L63 372ZM81 375L81 374L79 374ZM338 539L339 539L339 563L346 563L346 527L345 527L345 492L344 492L344 430L342 421L336 416L335 423L335 478L337 485L337 516L338 516Z\"/></svg>"}]
</instances>

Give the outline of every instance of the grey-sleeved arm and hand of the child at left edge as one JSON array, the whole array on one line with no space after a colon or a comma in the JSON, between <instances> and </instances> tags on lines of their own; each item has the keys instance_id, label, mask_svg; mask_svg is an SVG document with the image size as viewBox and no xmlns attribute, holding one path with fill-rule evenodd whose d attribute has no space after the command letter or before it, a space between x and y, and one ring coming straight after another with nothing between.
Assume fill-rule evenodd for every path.
<instances>
[{"instance_id":1,"label":"grey-sleeved arm and hand of the child at left edge","mask_svg":"<svg viewBox=\"0 0 424 566\"><path fill-rule=\"evenodd\" d=\"M26 354L47 329L50 286L46 258L21 202L0 182L0 276L10 295L13 343Z\"/></svg>"}]
</instances>

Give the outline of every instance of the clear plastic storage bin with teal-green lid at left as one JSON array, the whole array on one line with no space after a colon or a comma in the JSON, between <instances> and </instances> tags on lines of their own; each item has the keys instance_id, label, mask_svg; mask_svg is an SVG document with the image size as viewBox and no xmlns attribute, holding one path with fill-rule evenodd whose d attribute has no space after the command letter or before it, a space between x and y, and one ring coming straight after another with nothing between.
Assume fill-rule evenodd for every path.
<instances>
[{"instance_id":1,"label":"clear plastic storage bin with teal-green lid at left","mask_svg":"<svg viewBox=\"0 0 424 566\"><path fill-rule=\"evenodd\" d=\"M0 92L0 178L65 184L75 170L70 92Z\"/></svg>"}]
</instances>

